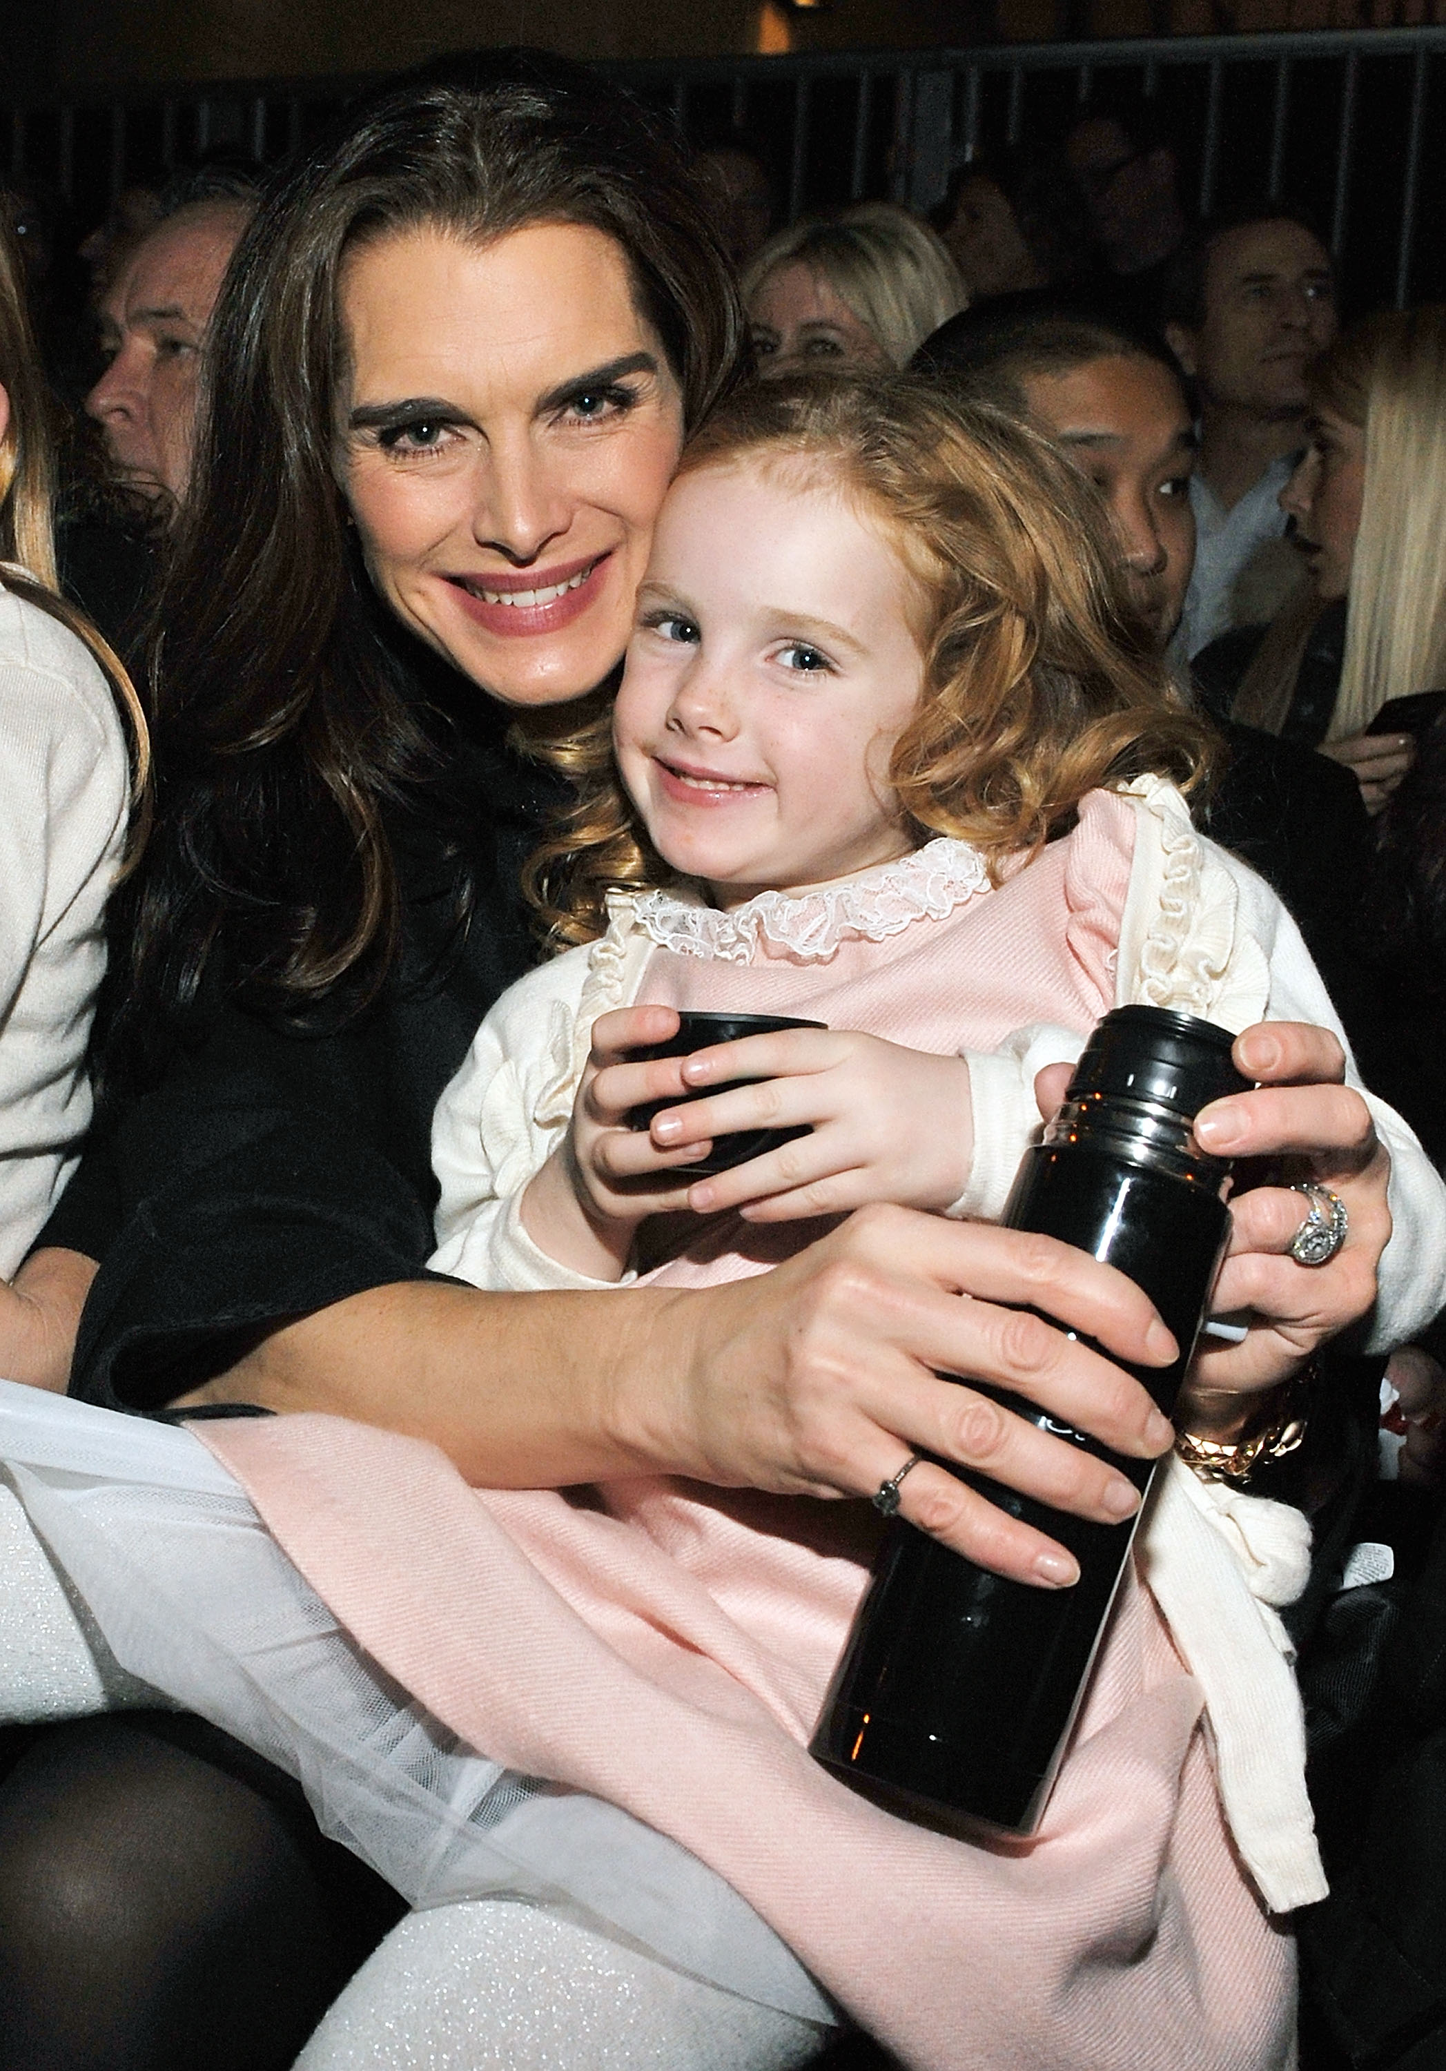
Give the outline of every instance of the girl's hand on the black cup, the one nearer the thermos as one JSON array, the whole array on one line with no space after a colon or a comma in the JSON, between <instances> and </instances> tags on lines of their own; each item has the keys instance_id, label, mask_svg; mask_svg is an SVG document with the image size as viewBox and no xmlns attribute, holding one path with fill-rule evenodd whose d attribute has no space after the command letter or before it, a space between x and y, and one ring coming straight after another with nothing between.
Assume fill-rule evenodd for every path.
<instances>
[{"instance_id":1,"label":"girl's hand on the black cup, the one nearer the thermos","mask_svg":"<svg viewBox=\"0 0 1446 2071\"><path fill-rule=\"evenodd\" d=\"M779 1029L677 1062L688 1089L754 1083L657 1114L657 1151L702 1156L735 1131L810 1129L731 1172L694 1180L686 1201L700 1216L740 1207L748 1222L798 1222L870 1201L938 1214L970 1180L974 1110L961 1056L849 1029Z\"/></svg>"}]
</instances>

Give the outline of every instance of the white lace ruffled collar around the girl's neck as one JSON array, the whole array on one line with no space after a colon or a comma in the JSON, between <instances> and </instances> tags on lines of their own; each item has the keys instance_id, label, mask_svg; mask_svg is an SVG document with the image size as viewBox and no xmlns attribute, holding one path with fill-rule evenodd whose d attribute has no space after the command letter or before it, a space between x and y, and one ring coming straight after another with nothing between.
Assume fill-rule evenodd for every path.
<instances>
[{"instance_id":1,"label":"white lace ruffled collar around the girl's neck","mask_svg":"<svg viewBox=\"0 0 1446 2071\"><path fill-rule=\"evenodd\" d=\"M754 953L767 946L820 963L839 942L885 942L916 920L945 920L988 888L978 849L941 837L893 864L796 897L758 893L723 913L698 895L653 891L638 897L634 915L659 949L679 957L752 963Z\"/></svg>"}]
</instances>

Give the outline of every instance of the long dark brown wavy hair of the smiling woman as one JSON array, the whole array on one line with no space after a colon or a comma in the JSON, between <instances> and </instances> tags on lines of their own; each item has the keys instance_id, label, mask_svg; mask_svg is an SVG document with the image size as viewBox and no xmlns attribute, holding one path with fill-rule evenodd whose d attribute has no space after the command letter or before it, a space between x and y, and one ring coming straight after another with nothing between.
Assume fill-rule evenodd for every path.
<instances>
[{"instance_id":1,"label":"long dark brown wavy hair of the smiling woman","mask_svg":"<svg viewBox=\"0 0 1446 2071\"><path fill-rule=\"evenodd\" d=\"M222 940L228 986L286 1021L354 1013L385 978L400 899L383 808L443 758L336 483L338 275L389 232L491 240L537 222L617 240L694 427L740 356L727 265L673 143L582 66L499 52L381 89L240 240L155 611L157 826L118 1029L145 1048L184 1025Z\"/></svg>"}]
</instances>

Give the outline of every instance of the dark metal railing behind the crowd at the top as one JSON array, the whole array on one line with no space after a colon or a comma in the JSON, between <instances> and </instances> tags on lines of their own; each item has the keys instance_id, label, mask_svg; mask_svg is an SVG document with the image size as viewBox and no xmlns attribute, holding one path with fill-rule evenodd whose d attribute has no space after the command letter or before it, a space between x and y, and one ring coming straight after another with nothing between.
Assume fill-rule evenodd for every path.
<instances>
[{"instance_id":1,"label":"dark metal railing behind the crowd at the top","mask_svg":"<svg viewBox=\"0 0 1446 2071\"><path fill-rule=\"evenodd\" d=\"M605 70L694 139L764 139L789 217L876 195L928 209L959 166L1059 137L1100 79L1133 75L1156 99L1202 211L1291 195L1328 226L1357 302L1446 296L1446 27ZM255 164L284 157L358 85L249 81L99 108L12 108L10 176L48 180L81 217L99 220L126 184L164 178L180 162L218 149Z\"/></svg>"}]
</instances>

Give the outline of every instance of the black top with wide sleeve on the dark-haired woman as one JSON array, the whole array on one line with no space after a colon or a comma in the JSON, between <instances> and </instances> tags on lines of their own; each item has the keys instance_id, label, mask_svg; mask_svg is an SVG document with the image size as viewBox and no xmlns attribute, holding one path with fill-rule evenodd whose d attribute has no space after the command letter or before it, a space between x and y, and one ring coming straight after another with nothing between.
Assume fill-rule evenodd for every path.
<instances>
[{"instance_id":1,"label":"black top with wide sleeve on the dark-haired woman","mask_svg":"<svg viewBox=\"0 0 1446 2071\"><path fill-rule=\"evenodd\" d=\"M286 1317L425 1278L431 1112L532 961L518 876L551 797L499 725L460 737L445 797L392 814L402 951L375 1004L296 1033L218 984L160 1085L97 1127L37 1238L102 1261L73 1394L153 1410Z\"/></svg>"}]
</instances>

